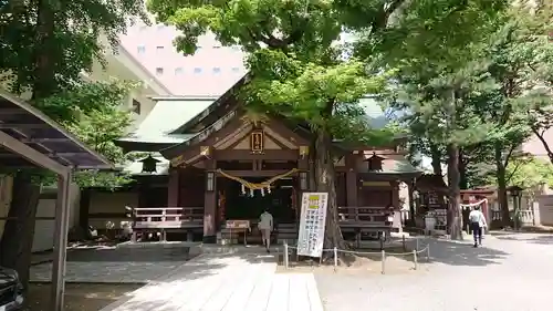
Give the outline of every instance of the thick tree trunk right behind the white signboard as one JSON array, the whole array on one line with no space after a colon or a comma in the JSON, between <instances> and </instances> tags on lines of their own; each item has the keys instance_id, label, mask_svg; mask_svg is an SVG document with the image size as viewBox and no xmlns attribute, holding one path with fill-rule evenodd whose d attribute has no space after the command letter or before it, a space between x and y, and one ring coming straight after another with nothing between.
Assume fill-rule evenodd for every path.
<instances>
[{"instance_id":1,"label":"thick tree trunk right behind the white signboard","mask_svg":"<svg viewBox=\"0 0 553 311\"><path fill-rule=\"evenodd\" d=\"M336 247L338 249L346 249L347 246L342 236L338 222L335 185L336 172L334 169L332 156L332 137L324 128L316 131L315 151L316 190L320 193L328 193L324 248Z\"/></svg>"}]
</instances>

